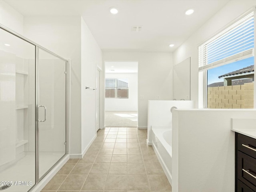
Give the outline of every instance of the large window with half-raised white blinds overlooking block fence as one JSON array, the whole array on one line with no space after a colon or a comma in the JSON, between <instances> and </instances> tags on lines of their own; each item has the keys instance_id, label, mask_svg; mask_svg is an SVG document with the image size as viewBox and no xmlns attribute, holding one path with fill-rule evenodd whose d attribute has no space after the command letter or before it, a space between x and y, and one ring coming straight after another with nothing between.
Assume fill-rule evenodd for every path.
<instances>
[{"instance_id":1,"label":"large window with half-raised white blinds overlooking block fence","mask_svg":"<svg viewBox=\"0 0 256 192\"><path fill-rule=\"evenodd\" d=\"M254 108L254 13L199 46L207 108Z\"/></svg>"}]
</instances>

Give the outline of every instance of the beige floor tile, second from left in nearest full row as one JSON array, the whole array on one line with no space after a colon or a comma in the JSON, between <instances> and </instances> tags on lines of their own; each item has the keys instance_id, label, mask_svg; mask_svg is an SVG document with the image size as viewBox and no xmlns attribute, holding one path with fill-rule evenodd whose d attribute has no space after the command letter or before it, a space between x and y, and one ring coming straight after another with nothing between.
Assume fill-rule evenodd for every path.
<instances>
[{"instance_id":1,"label":"beige floor tile, second from left in nearest full row","mask_svg":"<svg viewBox=\"0 0 256 192\"><path fill-rule=\"evenodd\" d=\"M81 190L86 177L86 175L69 175L59 190Z\"/></svg>"}]
</instances>

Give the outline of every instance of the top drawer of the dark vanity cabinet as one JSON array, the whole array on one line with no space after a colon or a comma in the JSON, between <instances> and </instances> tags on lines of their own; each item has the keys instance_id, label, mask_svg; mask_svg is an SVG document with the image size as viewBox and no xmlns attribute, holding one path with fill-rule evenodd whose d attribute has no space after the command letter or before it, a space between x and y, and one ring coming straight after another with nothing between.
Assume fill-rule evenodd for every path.
<instances>
[{"instance_id":1,"label":"top drawer of the dark vanity cabinet","mask_svg":"<svg viewBox=\"0 0 256 192\"><path fill-rule=\"evenodd\" d=\"M256 158L256 139L237 134L237 149Z\"/></svg>"}]
</instances>

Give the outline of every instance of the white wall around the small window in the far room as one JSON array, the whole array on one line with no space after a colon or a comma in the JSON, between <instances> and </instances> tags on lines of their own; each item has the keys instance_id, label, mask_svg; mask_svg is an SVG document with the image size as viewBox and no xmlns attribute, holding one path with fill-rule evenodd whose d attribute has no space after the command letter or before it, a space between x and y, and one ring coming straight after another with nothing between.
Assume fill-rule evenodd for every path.
<instances>
[{"instance_id":1,"label":"white wall around the small window in the far room","mask_svg":"<svg viewBox=\"0 0 256 192\"><path fill-rule=\"evenodd\" d=\"M106 73L105 78L127 78L128 98L106 98L105 111L138 110L138 73Z\"/></svg>"}]
</instances>

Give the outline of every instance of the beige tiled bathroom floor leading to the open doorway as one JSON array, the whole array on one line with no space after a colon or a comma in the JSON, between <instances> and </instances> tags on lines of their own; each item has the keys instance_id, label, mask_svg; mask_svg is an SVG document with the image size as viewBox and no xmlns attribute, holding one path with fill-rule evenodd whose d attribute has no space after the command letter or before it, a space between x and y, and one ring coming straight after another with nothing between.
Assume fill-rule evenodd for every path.
<instances>
[{"instance_id":1,"label":"beige tiled bathroom floor leading to the open doorway","mask_svg":"<svg viewBox=\"0 0 256 192\"><path fill-rule=\"evenodd\" d=\"M70 159L41 192L170 192L147 130L99 130L84 158Z\"/></svg>"}]
</instances>

